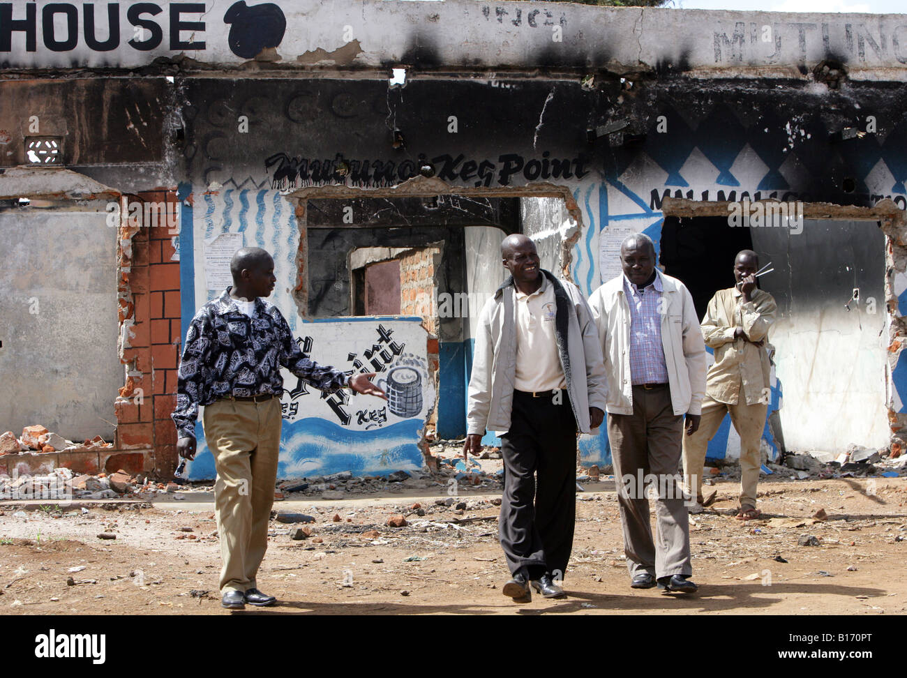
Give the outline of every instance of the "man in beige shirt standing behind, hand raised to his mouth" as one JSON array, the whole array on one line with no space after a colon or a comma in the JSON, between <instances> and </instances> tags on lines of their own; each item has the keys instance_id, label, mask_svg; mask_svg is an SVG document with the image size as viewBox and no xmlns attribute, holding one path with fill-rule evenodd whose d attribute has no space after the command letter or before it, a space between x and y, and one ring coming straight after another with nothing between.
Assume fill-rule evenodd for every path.
<instances>
[{"instance_id":1,"label":"man in beige shirt standing behind, hand raised to his mouth","mask_svg":"<svg viewBox=\"0 0 907 678\"><path fill-rule=\"evenodd\" d=\"M702 510L704 503L702 468L708 441L725 413L730 413L740 435L740 509L736 517L759 517L756 484L771 374L764 344L775 323L776 305L772 295L756 288L754 274L758 267L756 252L745 249L738 253L734 260L736 286L715 293L702 321L706 344L715 349L715 363L708 370L699 430L683 443L683 472L687 489L697 500L695 507L690 508L695 513Z\"/></svg>"}]
</instances>

